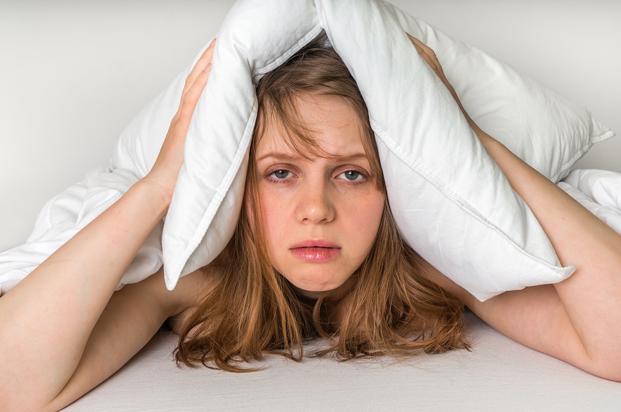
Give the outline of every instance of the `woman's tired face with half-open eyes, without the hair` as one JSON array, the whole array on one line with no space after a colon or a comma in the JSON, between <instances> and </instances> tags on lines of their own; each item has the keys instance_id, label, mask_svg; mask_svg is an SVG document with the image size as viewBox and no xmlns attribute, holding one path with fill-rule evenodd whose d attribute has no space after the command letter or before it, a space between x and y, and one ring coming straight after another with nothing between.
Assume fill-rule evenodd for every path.
<instances>
[{"instance_id":1,"label":"woman's tired face with half-open eyes, without the hair","mask_svg":"<svg viewBox=\"0 0 621 412\"><path fill-rule=\"evenodd\" d=\"M371 250L384 194L355 112L337 96L306 94L302 121L326 156L304 159L266 125L255 150L261 216L273 267L308 296L343 286Z\"/></svg>"}]
</instances>

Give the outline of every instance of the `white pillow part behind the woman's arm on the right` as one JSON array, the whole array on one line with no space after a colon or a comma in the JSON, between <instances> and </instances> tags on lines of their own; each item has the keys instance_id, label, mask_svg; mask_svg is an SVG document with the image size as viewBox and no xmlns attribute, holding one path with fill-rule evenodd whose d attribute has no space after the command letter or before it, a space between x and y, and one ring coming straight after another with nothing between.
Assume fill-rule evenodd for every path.
<instances>
[{"instance_id":1,"label":"white pillow part behind the woman's arm on the right","mask_svg":"<svg viewBox=\"0 0 621 412\"><path fill-rule=\"evenodd\" d=\"M433 48L477 125L551 181L567 176L593 143L615 135L540 81L394 10L404 28L416 28Z\"/></svg>"}]
</instances>

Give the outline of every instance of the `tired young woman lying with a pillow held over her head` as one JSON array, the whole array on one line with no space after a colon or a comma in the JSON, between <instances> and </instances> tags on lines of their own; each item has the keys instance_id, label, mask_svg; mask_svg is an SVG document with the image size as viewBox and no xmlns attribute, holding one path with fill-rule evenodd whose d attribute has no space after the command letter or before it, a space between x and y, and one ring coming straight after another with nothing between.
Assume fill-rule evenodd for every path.
<instances>
[{"instance_id":1,"label":"tired young woman lying with a pillow held over her head","mask_svg":"<svg viewBox=\"0 0 621 412\"><path fill-rule=\"evenodd\" d=\"M453 92L433 51L412 41ZM188 76L149 174L0 299L3 407L61 409L166 320L179 361L239 370L264 352L297 359L314 336L344 358L467 347L464 305L518 342L621 380L621 236L464 112L561 262L578 267L556 285L478 302L398 236L364 102L336 54L316 47L259 85L244 208L221 256L174 291L159 271L115 292L166 214L213 48Z\"/></svg>"}]
</instances>

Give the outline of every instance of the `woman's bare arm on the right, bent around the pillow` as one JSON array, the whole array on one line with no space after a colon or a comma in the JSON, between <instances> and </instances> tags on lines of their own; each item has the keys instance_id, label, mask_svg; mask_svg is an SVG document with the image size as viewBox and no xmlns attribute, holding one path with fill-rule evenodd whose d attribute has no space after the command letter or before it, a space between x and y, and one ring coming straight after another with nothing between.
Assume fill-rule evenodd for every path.
<instances>
[{"instance_id":1,"label":"woman's bare arm on the right, bent around the pillow","mask_svg":"<svg viewBox=\"0 0 621 412\"><path fill-rule=\"evenodd\" d=\"M418 52L461 103L433 51ZM621 235L504 145L483 132L462 107L486 151L538 218L562 265L575 265L554 285L510 291L479 302L449 285L478 316L507 336L585 371L621 381Z\"/></svg>"}]
</instances>

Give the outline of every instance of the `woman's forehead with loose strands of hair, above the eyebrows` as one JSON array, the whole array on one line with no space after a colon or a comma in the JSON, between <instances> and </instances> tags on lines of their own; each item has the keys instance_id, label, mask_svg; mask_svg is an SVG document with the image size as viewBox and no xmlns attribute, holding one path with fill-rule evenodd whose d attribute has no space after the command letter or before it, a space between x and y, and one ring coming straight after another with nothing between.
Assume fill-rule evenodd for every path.
<instances>
[{"instance_id":1,"label":"woman's forehead with loose strands of hair, above the eyebrows","mask_svg":"<svg viewBox=\"0 0 621 412\"><path fill-rule=\"evenodd\" d=\"M303 94L295 103L294 127L286 127L276 114L265 116L257 158L267 152L298 154L302 157L349 156L364 152L358 116L340 96ZM294 129L294 130L288 130Z\"/></svg>"}]
</instances>

